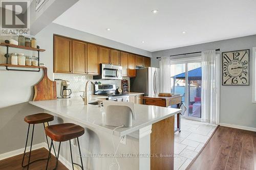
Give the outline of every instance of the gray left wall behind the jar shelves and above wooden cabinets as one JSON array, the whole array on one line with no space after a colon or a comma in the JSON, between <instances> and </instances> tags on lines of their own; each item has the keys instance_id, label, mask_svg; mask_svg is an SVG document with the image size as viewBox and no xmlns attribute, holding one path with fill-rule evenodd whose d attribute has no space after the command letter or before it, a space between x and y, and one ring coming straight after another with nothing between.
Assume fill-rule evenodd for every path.
<instances>
[{"instance_id":1,"label":"gray left wall behind the jar shelves and above wooden cabinets","mask_svg":"<svg viewBox=\"0 0 256 170\"><path fill-rule=\"evenodd\" d=\"M148 57L152 56L151 52L139 48L51 23L35 35L38 45L46 49L46 52L40 54L40 63L46 64L50 79L53 79L53 34L94 42ZM9 38L1 36L0 42ZM5 53L6 47L0 46L1 64L6 62ZM32 55L29 51L15 48L11 48L10 53ZM33 53L33 55L37 54ZM0 154L24 148L27 133L27 124L24 122L24 117L29 114L44 112L44 110L28 104L28 101L33 99L33 85L39 82L41 78L42 72L7 71L5 67L0 67ZM37 125L35 130L33 144L43 142L44 131L42 125Z\"/></svg>"}]
</instances>

